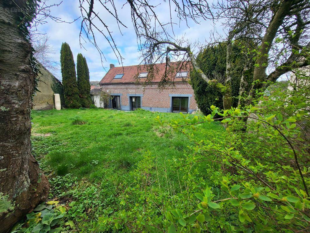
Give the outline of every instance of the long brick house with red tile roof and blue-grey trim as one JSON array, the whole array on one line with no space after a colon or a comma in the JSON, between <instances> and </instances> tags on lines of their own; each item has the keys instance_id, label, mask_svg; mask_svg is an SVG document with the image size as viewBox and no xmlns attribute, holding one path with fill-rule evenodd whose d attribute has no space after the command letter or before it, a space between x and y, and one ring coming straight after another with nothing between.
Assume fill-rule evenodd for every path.
<instances>
[{"instance_id":1,"label":"long brick house with red tile roof and blue-grey trim","mask_svg":"<svg viewBox=\"0 0 310 233\"><path fill-rule=\"evenodd\" d=\"M174 64L171 62L170 67ZM101 89L113 96L109 108L184 113L197 110L194 90L187 82L189 69L171 69L168 80L173 85L159 89L158 84L166 72L166 63L155 64L155 67L152 80L148 80L146 66L114 67L110 64L109 71L99 82Z\"/></svg>"}]
</instances>

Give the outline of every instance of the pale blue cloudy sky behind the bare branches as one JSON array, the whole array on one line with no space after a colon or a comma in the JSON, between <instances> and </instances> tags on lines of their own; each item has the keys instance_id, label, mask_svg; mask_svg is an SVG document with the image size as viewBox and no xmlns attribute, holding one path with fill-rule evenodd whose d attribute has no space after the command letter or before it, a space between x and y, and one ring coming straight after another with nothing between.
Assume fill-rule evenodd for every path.
<instances>
[{"instance_id":1,"label":"pale blue cloudy sky behind the bare branches","mask_svg":"<svg viewBox=\"0 0 310 233\"><path fill-rule=\"evenodd\" d=\"M60 0L49 0L47 4L55 4L59 3ZM127 26L121 27L122 34L120 33L117 23L113 16L109 15L107 11L103 9L97 2L94 5L94 11L100 13L100 17L103 21L108 25L109 30L112 31L113 39L117 44L117 48L119 49L122 57L124 57L123 65L135 65L139 62L139 52L137 46L137 39L135 35L135 31L131 22L130 15L130 7L123 4L126 2L125 0L114 0L117 14ZM162 21L169 20L169 5L166 2L152 1L156 7L156 13L158 17ZM111 6L107 6L111 7ZM78 0L65 0L60 6L51 8L51 15L60 17L62 20L70 22L74 19L77 19L81 16L79 1ZM173 16L174 17L174 16ZM174 21L178 22L177 18L174 17ZM100 23L96 23L100 29L104 29L103 25ZM185 22L181 22L180 25L176 25L174 27L174 32L177 37L184 36L192 42L199 41L203 43L205 40L208 40L210 37L210 31L213 29L213 24L211 21L201 21L200 24L196 24L193 22L188 23L189 28L186 26ZM82 53L83 56L86 57L88 67L90 70L90 79L91 81L101 80L105 73L108 71L108 67L110 63L115 64L115 66L120 66L117 61L117 57L114 55L113 50L109 46L108 42L104 39L104 37L100 36L97 33L96 41L99 45L100 49L103 51L105 59L103 59L103 66L100 59L100 54L96 50L96 48L87 41L83 43L85 48L81 48L79 42L79 33L81 29L81 20L78 19L74 23L57 23L51 19L47 19L47 23L40 25L38 30L46 33L49 37L49 43L54 48L55 53L51 54L51 57L58 64L60 63L60 48L63 42L69 43L71 50L73 52L73 57L76 62L76 57L78 53ZM217 26L217 31L222 34L220 30L220 26ZM55 73L56 77L61 79L60 65L58 66L58 71Z\"/></svg>"}]
</instances>

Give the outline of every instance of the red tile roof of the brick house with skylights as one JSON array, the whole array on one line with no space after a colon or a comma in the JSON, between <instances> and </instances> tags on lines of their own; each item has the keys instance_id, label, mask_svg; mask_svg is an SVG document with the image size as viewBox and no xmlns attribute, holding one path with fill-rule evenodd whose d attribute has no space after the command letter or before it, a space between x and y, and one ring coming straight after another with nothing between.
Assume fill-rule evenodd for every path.
<instances>
[{"instance_id":1,"label":"red tile roof of the brick house with skylights","mask_svg":"<svg viewBox=\"0 0 310 233\"><path fill-rule=\"evenodd\" d=\"M150 77L148 78L137 78L140 73L148 72L150 69L150 65L135 65L135 66L120 66L120 67L113 67L110 69L106 75L104 75L103 79L99 82L99 84L109 84L109 83L135 83L135 82L145 82L146 80L151 82L159 82L165 75L168 81L184 81L184 79L188 79L189 71L190 71L190 64L187 63L182 65L180 62L170 62L169 66L167 66L166 70L166 63L158 63L155 64L153 68L153 78L151 80ZM177 72L181 71L188 71L187 78L176 78L175 75ZM115 75L117 74L124 74L122 78L115 79ZM149 74L149 76L152 76Z\"/></svg>"}]
</instances>

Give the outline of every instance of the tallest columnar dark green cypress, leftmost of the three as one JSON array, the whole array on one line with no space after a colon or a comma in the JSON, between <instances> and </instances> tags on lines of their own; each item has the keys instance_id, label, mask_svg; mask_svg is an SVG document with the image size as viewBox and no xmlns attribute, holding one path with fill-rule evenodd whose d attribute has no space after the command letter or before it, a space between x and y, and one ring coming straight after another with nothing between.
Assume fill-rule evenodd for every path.
<instances>
[{"instance_id":1,"label":"tallest columnar dark green cypress, leftmost of the three","mask_svg":"<svg viewBox=\"0 0 310 233\"><path fill-rule=\"evenodd\" d=\"M70 46L66 42L61 45L60 64L62 84L64 86L64 102L68 108L79 108L81 104L78 96L75 64Z\"/></svg>"}]
</instances>

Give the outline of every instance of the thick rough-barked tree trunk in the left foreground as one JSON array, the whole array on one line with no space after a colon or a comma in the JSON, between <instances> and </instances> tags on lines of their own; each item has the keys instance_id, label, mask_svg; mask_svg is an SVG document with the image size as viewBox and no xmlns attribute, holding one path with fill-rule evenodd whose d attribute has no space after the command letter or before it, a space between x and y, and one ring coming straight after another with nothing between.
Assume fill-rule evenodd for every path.
<instances>
[{"instance_id":1,"label":"thick rough-barked tree trunk in the left foreground","mask_svg":"<svg viewBox=\"0 0 310 233\"><path fill-rule=\"evenodd\" d=\"M47 198L49 184L31 154L30 111L35 73L31 44L14 5L0 0L0 232ZM22 1L16 1L22 2ZM24 0L25 2L25 0Z\"/></svg>"}]
</instances>

